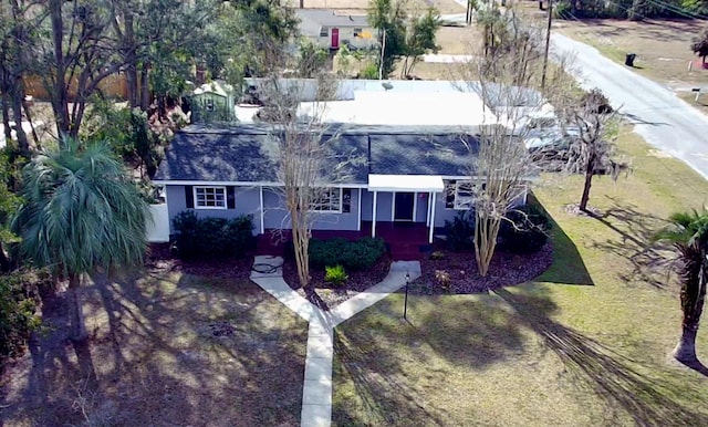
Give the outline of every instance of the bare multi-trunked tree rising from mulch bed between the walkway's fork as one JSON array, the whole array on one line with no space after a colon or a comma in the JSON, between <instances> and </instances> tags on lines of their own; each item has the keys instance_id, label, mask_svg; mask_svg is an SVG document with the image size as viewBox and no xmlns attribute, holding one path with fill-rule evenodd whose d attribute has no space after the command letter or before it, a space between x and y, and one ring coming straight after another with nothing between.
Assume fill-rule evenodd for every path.
<instances>
[{"instance_id":1,"label":"bare multi-trunked tree rising from mulch bed between the walkway's fork","mask_svg":"<svg viewBox=\"0 0 708 427\"><path fill-rule=\"evenodd\" d=\"M289 226L303 288L310 283L309 244L313 223L327 206L341 202L339 187L348 180L352 167L360 162L355 148L339 146L337 131L323 121L336 82L320 75L314 87L316 100L305 114L299 114L304 84L269 77L260 87L266 102L261 118L270 123L270 136L278 150L281 186L273 190L284 200L290 222L283 225L281 232Z\"/></svg>"}]
</instances>

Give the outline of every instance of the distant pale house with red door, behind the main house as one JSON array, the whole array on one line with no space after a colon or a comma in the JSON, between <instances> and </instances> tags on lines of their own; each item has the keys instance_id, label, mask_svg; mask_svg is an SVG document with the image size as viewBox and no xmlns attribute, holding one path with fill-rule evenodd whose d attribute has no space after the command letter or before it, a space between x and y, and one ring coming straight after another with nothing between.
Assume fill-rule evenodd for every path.
<instances>
[{"instance_id":1,"label":"distant pale house with red door, behind the main house","mask_svg":"<svg viewBox=\"0 0 708 427\"><path fill-rule=\"evenodd\" d=\"M296 9L295 13L302 35L321 48L337 50L345 44L365 49L378 43L366 15L336 14L329 9Z\"/></svg>"}]
</instances>

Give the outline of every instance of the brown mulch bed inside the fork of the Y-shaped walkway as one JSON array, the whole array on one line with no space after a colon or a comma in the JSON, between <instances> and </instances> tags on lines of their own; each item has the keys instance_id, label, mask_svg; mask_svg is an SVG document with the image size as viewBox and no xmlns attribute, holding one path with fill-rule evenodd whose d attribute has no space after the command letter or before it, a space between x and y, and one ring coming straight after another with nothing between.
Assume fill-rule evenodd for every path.
<instances>
[{"instance_id":1,"label":"brown mulch bed inside the fork of the Y-shaped walkway","mask_svg":"<svg viewBox=\"0 0 708 427\"><path fill-rule=\"evenodd\" d=\"M384 280L391 269L391 257L384 254L374 267L365 271L347 271L348 280L341 285L333 285L324 281L324 270L311 270L312 291L300 287L298 269L294 261L283 264L283 279L299 294L322 310L331 310L350 298Z\"/></svg>"}]
</instances>

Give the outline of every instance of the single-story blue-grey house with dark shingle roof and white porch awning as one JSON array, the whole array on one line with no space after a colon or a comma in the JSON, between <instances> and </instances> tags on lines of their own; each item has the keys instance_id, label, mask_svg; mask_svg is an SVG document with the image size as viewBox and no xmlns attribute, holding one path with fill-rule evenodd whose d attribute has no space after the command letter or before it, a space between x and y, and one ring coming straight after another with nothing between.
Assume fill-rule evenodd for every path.
<instances>
[{"instance_id":1,"label":"single-story blue-grey house with dark shingle roof and white porch awning","mask_svg":"<svg viewBox=\"0 0 708 427\"><path fill-rule=\"evenodd\" d=\"M406 222L427 227L431 242L445 220L472 207L473 132L460 126L340 125L332 149L365 162L350 165L350 178L330 188L313 230L371 229L376 236L377 225ZM154 183L165 187L170 222L187 209L202 217L252 215L254 231L266 233L289 228L277 165L277 145L267 126L192 125L175 136Z\"/></svg>"}]
</instances>

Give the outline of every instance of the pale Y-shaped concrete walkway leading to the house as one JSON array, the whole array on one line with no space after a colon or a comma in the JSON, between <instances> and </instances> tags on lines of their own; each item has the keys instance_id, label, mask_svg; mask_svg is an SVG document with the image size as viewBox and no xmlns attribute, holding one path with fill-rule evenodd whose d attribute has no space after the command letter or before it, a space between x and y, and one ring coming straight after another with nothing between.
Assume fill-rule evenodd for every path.
<instances>
[{"instance_id":1,"label":"pale Y-shaped concrete walkway leading to the house","mask_svg":"<svg viewBox=\"0 0 708 427\"><path fill-rule=\"evenodd\" d=\"M316 305L292 290L283 280L280 257L259 256L253 261L251 280L310 323L305 355L305 378L302 389L302 427L325 427L332 424L332 360L334 327L356 313L374 305L410 280L420 277L418 261L396 261L388 275L378 284L343 302L332 311Z\"/></svg>"}]
</instances>

